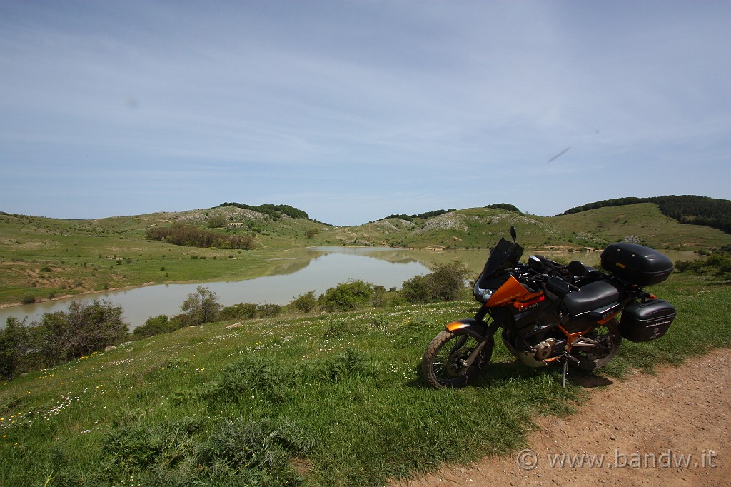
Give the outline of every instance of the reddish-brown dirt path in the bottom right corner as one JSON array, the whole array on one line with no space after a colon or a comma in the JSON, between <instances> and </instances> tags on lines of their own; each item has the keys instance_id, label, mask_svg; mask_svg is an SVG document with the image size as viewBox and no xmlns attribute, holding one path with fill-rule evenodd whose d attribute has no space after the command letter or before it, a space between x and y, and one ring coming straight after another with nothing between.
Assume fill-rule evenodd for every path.
<instances>
[{"instance_id":1,"label":"reddish-brown dirt path in the bottom right corner","mask_svg":"<svg viewBox=\"0 0 731 487\"><path fill-rule=\"evenodd\" d=\"M569 418L539 418L517 455L397 485L731 486L731 350L590 394Z\"/></svg>"}]
</instances>

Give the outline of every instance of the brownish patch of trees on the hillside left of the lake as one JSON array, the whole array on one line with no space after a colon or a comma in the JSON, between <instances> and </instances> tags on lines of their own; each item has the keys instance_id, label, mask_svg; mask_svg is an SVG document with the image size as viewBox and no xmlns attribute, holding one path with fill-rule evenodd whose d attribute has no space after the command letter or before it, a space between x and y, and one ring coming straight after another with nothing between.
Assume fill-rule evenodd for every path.
<instances>
[{"instance_id":1,"label":"brownish patch of trees on the hillside left of the lake","mask_svg":"<svg viewBox=\"0 0 731 487\"><path fill-rule=\"evenodd\" d=\"M172 227L150 227L145 238L186 247L249 250L254 237L246 233L220 233L195 225L175 223Z\"/></svg>"}]
</instances>

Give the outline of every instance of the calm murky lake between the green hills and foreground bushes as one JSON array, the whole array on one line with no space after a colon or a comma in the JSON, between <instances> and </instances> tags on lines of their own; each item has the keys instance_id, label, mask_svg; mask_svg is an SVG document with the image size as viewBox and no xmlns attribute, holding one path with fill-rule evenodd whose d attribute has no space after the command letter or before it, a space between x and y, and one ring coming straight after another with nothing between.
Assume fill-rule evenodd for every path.
<instances>
[{"instance_id":1,"label":"calm murky lake between the green hills and foreground bushes","mask_svg":"<svg viewBox=\"0 0 731 487\"><path fill-rule=\"evenodd\" d=\"M554 260L580 260L587 265L599 265L601 252L542 252ZM663 251L673 261L697 258L693 252ZM523 255L526 260L528 252ZM482 270L488 256L486 249L452 250L448 252L426 252L390 247L313 247L294 249L279 259L281 264L270 276L242 281L221 281L188 284L156 284L128 290L97 292L55 301L45 301L25 306L0 309L0 328L5 327L9 317L28 323L39 320L45 313L66 311L72 301L106 300L124 310L124 320L130 330L143 325L150 317L180 314L180 306L187 296L202 285L215 292L224 306L237 303L271 303L284 305L314 291L320 295L341 282L362 279L383 286L401 288L401 284L414 276L429 273L433 263L461 260L474 272Z\"/></svg>"}]
</instances>

